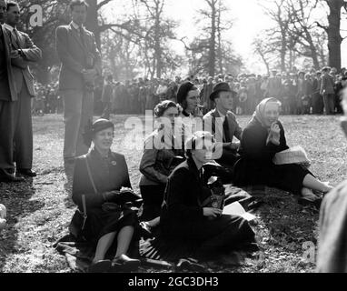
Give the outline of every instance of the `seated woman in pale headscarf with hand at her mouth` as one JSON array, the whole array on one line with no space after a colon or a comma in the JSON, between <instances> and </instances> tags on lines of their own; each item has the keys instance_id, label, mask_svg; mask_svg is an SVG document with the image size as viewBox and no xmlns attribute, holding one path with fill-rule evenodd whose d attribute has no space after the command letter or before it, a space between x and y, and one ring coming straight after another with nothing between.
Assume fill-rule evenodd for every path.
<instances>
[{"instance_id":1,"label":"seated woman in pale headscarf with hand at her mouth","mask_svg":"<svg viewBox=\"0 0 347 291\"><path fill-rule=\"evenodd\" d=\"M242 157L234 168L235 185L273 186L313 202L317 196L312 190L326 194L332 186L319 181L304 166L273 164L273 156L289 148L278 119L280 107L275 98L263 99L244 128L239 151Z\"/></svg>"}]
</instances>

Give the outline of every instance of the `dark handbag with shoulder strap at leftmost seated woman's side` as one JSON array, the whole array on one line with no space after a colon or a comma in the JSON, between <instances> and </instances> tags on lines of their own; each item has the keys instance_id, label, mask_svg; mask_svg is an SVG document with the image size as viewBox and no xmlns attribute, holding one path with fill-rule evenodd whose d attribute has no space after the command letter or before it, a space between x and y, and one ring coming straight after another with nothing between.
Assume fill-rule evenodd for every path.
<instances>
[{"instance_id":1,"label":"dark handbag with shoulder strap at leftmost seated woman's side","mask_svg":"<svg viewBox=\"0 0 347 291\"><path fill-rule=\"evenodd\" d=\"M86 156L84 156L84 160L85 160L85 166L87 168L89 179L92 183L94 193L96 194L97 190L96 190L96 187L94 185L94 179L93 179L93 176L91 174L88 159ZM74 216L71 219L71 223L69 226L69 231L70 231L70 234L72 234L76 239L85 240L84 230L85 230L85 223L86 223L86 220L88 218L87 211L86 211L85 195L82 195L82 207L83 207L83 212L78 208L74 212Z\"/></svg>"}]
</instances>

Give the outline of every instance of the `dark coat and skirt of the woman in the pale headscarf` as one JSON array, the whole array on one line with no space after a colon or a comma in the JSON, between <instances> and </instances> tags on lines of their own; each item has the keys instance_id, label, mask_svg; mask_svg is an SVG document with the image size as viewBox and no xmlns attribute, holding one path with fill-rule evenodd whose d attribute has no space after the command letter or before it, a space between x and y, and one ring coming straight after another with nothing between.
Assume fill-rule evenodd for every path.
<instances>
[{"instance_id":1,"label":"dark coat and skirt of the woman in the pale headscarf","mask_svg":"<svg viewBox=\"0 0 347 291\"><path fill-rule=\"evenodd\" d=\"M278 125L281 129L279 146L266 144L268 131L255 118L243 129L239 150L242 157L234 167L236 186L266 185L301 193L303 178L311 173L299 165L273 164L273 156L288 149L283 125L281 122Z\"/></svg>"}]
</instances>

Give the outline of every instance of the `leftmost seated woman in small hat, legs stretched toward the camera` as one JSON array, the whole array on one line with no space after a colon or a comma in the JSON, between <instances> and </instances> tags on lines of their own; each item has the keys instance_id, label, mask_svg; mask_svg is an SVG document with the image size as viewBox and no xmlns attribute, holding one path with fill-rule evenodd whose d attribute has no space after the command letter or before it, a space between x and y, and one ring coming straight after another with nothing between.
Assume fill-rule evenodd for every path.
<instances>
[{"instance_id":1,"label":"leftmost seated woman in small hat, legs stretched toward the camera","mask_svg":"<svg viewBox=\"0 0 347 291\"><path fill-rule=\"evenodd\" d=\"M74 167L73 200L81 212L86 208L83 235L95 247L89 268L93 273L121 266L136 269L140 265L139 260L126 256L131 243L135 243L138 221L133 210L115 202L122 188L131 188L131 184L124 156L111 151L113 139L114 124L105 119L95 121L84 135L84 143L90 146L93 141L94 146L76 159ZM111 203L114 209L107 209ZM113 262L105 260L111 246L116 246Z\"/></svg>"}]
</instances>

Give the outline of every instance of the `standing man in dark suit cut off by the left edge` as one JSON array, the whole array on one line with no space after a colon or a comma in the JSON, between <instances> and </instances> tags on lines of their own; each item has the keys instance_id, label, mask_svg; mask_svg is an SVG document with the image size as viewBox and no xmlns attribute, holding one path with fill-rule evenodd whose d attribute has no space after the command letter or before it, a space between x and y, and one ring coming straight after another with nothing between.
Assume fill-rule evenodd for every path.
<instances>
[{"instance_id":1,"label":"standing man in dark suit cut off by the left edge","mask_svg":"<svg viewBox=\"0 0 347 291\"><path fill-rule=\"evenodd\" d=\"M20 182L23 177L15 177L14 136L15 105L18 95L11 66L11 43L4 21L7 3L0 0L0 182ZM15 55L14 55L15 56Z\"/></svg>"}]
</instances>

